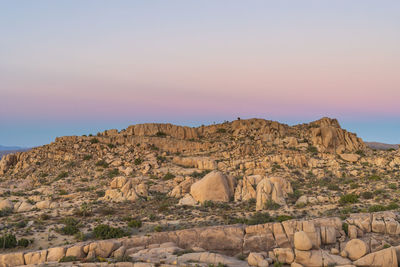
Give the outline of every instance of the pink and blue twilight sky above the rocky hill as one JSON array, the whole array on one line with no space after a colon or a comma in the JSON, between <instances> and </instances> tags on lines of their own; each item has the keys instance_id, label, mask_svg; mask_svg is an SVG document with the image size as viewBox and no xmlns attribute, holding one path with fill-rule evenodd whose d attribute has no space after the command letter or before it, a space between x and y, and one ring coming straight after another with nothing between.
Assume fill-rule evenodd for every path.
<instances>
[{"instance_id":1,"label":"pink and blue twilight sky above the rocky hill","mask_svg":"<svg viewBox=\"0 0 400 267\"><path fill-rule=\"evenodd\" d=\"M400 1L2 0L0 144L328 116L400 143Z\"/></svg>"}]
</instances>

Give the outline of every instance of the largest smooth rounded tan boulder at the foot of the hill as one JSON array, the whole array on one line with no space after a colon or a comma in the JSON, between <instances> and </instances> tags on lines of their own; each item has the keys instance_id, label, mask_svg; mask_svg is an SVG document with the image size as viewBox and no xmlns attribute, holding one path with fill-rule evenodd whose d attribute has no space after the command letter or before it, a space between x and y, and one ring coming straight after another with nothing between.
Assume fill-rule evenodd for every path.
<instances>
[{"instance_id":1,"label":"largest smooth rounded tan boulder at the foot of the hill","mask_svg":"<svg viewBox=\"0 0 400 267\"><path fill-rule=\"evenodd\" d=\"M220 171L213 171L190 187L193 198L204 201L229 202L233 196L233 182Z\"/></svg>"}]
</instances>

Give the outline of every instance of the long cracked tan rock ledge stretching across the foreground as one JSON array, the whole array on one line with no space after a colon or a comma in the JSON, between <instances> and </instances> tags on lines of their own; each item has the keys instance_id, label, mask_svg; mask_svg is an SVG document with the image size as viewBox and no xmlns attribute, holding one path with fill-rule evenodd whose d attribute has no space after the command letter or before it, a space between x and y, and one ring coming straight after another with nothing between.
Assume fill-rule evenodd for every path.
<instances>
[{"instance_id":1,"label":"long cracked tan rock ledge stretching across the foreground","mask_svg":"<svg viewBox=\"0 0 400 267\"><path fill-rule=\"evenodd\" d=\"M398 266L399 214L351 214L83 242L0 255L2 266ZM68 263L62 263L68 262Z\"/></svg>"}]
</instances>

